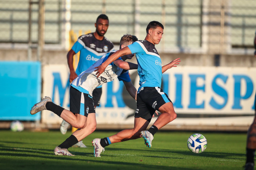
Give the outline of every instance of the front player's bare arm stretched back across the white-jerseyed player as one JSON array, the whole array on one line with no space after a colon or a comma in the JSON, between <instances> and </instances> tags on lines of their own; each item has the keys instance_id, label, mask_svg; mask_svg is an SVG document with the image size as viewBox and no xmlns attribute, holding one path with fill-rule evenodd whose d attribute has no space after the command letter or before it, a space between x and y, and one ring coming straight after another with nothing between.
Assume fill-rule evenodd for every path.
<instances>
[{"instance_id":1,"label":"front player's bare arm stretched back across the white-jerseyed player","mask_svg":"<svg viewBox=\"0 0 256 170\"><path fill-rule=\"evenodd\" d=\"M105 68L112 63L113 61L115 61L116 59L118 59L119 57L123 56L123 55L128 55L128 54L132 54L132 52L130 51L129 47L124 47L118 51L116 51L114 54L112 54L110 57L108 57L108 59L106 59L106 61L104 63L102 63L100 66L95 67L97 71L96 75L97 77L100 76L100 74L102 72L104 72Z\"/></svg>"}]
</instances>

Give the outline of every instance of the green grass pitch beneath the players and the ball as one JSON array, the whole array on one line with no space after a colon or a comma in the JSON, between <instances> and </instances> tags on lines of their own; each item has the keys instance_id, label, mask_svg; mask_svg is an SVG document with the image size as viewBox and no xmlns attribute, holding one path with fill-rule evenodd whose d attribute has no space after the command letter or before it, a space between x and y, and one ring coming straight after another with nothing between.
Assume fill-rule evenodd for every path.
<instances>
[{"instance_id":1,"label":"green grass pitch beneath the players and the ball","mask_svg":"<svg viewBox=\"0 0 256 170\"><path fill-rule=\"evenodd\" d=\"M143 139L114 143L101 158L93 156L92 140L116 132L95 131L83 140L88 148L68 149L76 156L55 156L54 148L70 136L59 131L0 131L0 169L113 169L113 170L242 170L246 133L202 133L208 145L195 154L186 145L192 132L162 132L154 135L152 148ZM196 132L200 133L200 132Z\"/></svg>"}]
</instances>

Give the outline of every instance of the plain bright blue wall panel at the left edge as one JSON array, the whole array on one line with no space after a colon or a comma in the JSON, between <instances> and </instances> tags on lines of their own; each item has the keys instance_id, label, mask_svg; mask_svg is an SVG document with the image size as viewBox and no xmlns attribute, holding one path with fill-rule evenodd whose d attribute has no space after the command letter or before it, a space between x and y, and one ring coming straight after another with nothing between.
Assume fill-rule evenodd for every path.
<instances>
[{"instance_id":1,"label":"plain bright blue wall panel at the left edge","mask_svg":"<svg viewBox=\"0 0 256 170\"><path fill-rule=\"evenodd\" d=\"M0 62L0 120L40 120L30 115L31 107L41 99L40 62Z\"/></svg>"}]
</instances>

